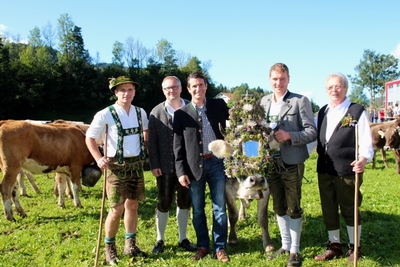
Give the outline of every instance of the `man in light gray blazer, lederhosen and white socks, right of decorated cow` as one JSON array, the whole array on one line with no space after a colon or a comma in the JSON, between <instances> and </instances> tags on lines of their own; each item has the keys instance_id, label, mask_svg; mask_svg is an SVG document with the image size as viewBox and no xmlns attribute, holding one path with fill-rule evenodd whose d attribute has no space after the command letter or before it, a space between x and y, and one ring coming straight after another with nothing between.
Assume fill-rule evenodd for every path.
<instances>
[{"instance_id":1,"label":"man in light gray blazer, lederhosen and white socks, right of decorated cow","mask_svg":"<svg viewBox=\"0 0 400 267\"><path fill-rule=\"evenodd\" d=\"M301 180L304 161L309 157L307 144L316 140L310 101L307 97L289 92L289 69L283 63L270 68L269 80L273 93L261 99L266 119L280 143L274 153L274 165L268 184L277 215L282 247L268 258L289 254L286 266L300 266L300 234L303 210L300 207Z\"/></svg>"}]
</instances>

